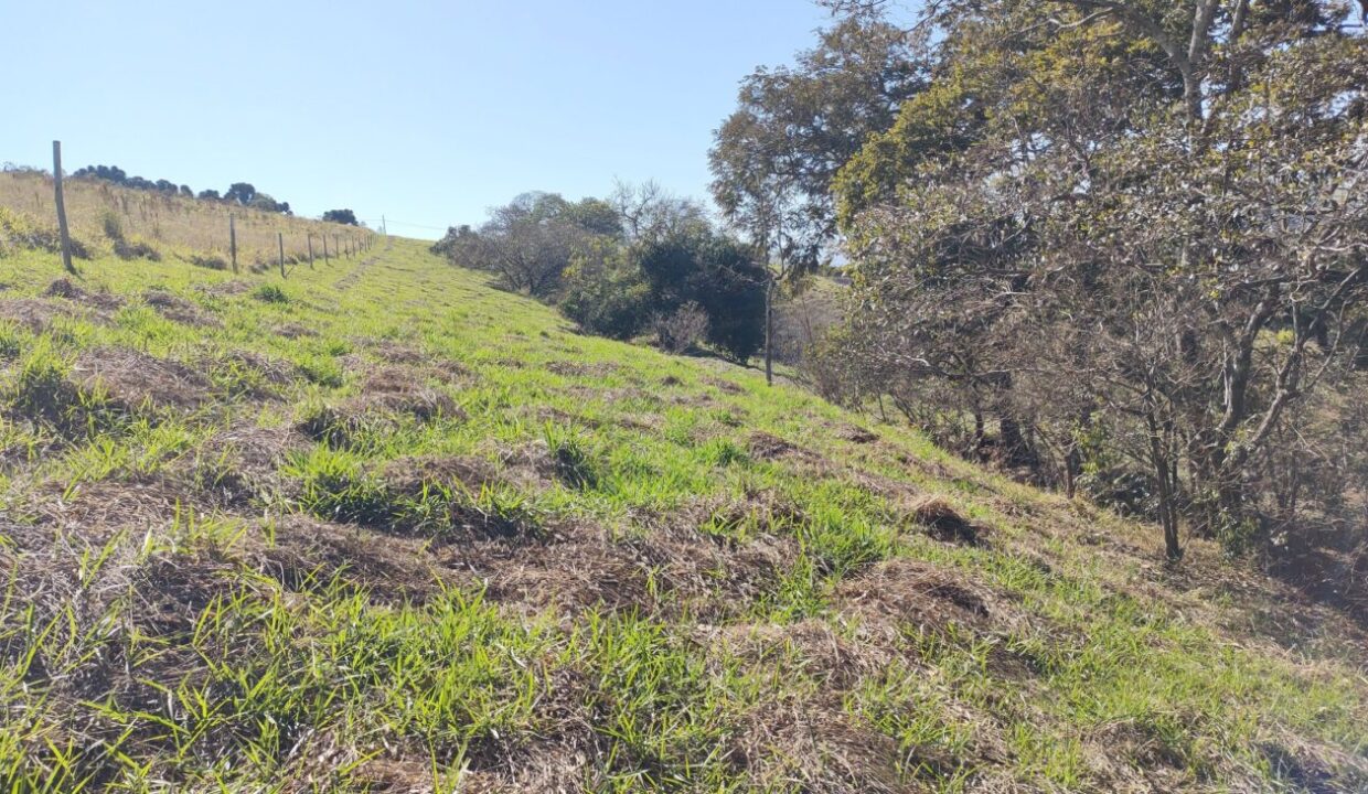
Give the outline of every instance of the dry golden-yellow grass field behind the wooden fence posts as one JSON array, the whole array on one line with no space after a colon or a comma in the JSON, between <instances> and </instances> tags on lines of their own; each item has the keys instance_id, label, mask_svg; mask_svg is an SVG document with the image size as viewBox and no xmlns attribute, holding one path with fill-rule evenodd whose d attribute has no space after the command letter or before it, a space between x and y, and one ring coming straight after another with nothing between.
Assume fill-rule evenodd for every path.
<instances>
[{"instance_id":1,"label":"dry golden-yellow grass field behind the wooden fence posts","mask_svg":"<svg viewBox=\"0 0 1368 794\"><path fill-rule=\"evenodd\" d=\"M368 234L350 225L129 190L97 179L67 179L63 193L77 249L96 257L112 256L118 247L124 256L153 251L157 257L227 268L230 213L237 217L241 269L276 265L276 234L285 235L286 258L297 261L308 260L311 234L316 258L323 258L323 236L331 254L338 243L345 246L347 239ZM112 239L111 231L123 239ZM56 250L52 178L40 171L0 171L0 256L7 247L27 247L7 246L8 238L21 236L41 239ZM119 242L123 246L116 246Z\"/></svg>"}]
</instances>

